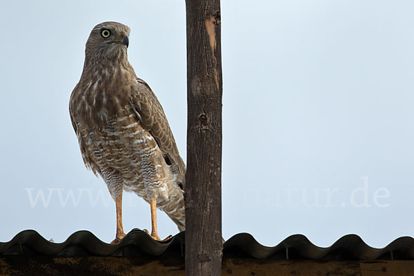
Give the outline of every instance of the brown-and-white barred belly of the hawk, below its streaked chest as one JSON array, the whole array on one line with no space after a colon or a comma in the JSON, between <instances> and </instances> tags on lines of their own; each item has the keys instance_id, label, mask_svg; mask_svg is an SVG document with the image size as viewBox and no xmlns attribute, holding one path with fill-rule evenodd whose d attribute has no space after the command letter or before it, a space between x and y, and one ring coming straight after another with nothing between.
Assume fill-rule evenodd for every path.
<instances>
[{"instance_id":1,"label":"brown-and-white barred belly of the hawk, below its streaked chest","mask_svg":"<svg viewBox=\"0 0 414 276\"><path fill-rule=\"evenodd\" d=\"M93 161L99 167L112 197L124 189L146 201L157 199L161 208L168 201L172 186L168 184L175 184L177 176L166 164L157 141L129 109L126 106L124 115L110 118L105 128L78 126L88 155L86 163Z\"/></svg>"}]
</instances>

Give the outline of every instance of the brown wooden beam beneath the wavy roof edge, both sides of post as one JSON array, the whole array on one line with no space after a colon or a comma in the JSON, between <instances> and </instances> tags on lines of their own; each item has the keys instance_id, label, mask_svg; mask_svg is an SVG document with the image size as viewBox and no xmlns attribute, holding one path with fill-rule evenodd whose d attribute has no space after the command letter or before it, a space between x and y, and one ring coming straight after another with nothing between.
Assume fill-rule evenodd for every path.
<instances>
[{"instance_id":1,"label":"brown wooden beam beneath the wavy roof edge, both sides of post","mask_svg":"<svg viewBox=\"0 0 414 276\"><path fill-rule=\"evenodd\" d=\"M184 276L184 264L133 257L0 258L0 275ZM226 258L219 275L237 276L412 276L414 261L273 261Z\"/></svg>"}]
</instances>

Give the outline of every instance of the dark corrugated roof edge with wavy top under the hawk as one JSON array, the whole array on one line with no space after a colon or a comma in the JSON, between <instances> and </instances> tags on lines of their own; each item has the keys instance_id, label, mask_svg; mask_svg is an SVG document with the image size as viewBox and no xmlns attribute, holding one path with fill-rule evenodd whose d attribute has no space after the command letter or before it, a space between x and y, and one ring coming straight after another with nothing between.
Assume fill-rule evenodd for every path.
<instances>
[{"instance_id":1,"label":"dark corrugated roof edge with wavy top under the hawk","mask_svg":"<svg viewBox=\"0 0 414 276\"><path fill-rule=\"evenodd\" d=\"M124 256L182 259L184 262L184 232L167 242L157 242L144 231L132 230L119 244L106 244L88 231L78 231L63 243L44 239L34 230L24 230L10 242L0 242L0 257L32 256ZM332 246L322 248L304 235L292 235L277 246L259 244L247 233L237 234L224 243L224 257L256 259L341 260L414 260L414 239L400 237L384 248L372 248L357 235L346 235Z\"/></svg>"}]
</instances>

